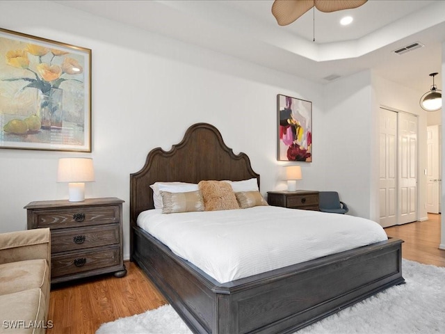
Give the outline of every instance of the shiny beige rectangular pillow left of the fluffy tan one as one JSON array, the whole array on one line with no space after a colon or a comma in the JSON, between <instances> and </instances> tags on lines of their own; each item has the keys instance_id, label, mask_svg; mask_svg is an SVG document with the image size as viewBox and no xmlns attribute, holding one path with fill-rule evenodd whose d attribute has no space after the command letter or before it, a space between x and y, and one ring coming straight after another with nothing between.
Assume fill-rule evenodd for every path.
<instances>
[{"instance_id":1,"label":"shiny beige rectangular pillow left of the fluffy tan one","mask_svg":"<svg viewBox=\"0 0 445 334\"><path fill-rule=\"evenodd\" d=\"M159 191L159 193L162 196L163 214L204 211L204 200L199 190L186 193L169 193L168 191Z\"/></svg>"}]
</instances>

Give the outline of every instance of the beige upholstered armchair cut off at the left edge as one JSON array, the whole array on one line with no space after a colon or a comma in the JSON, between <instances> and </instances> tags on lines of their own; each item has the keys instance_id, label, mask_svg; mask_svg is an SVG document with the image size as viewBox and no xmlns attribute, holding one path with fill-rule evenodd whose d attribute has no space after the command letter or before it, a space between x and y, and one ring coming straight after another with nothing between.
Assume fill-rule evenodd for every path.
<instances>
[{"instance_id":1,"label":"beige upholstered armchair cut off at the left edge","mask_svg":"<svg viewBox=\"0 0 445 334\"><path fill-rule=\"evenodd\" d=\"M0 333L45 333L50 269L49 228L0 234Z\"/></svg>"}]
</instances>

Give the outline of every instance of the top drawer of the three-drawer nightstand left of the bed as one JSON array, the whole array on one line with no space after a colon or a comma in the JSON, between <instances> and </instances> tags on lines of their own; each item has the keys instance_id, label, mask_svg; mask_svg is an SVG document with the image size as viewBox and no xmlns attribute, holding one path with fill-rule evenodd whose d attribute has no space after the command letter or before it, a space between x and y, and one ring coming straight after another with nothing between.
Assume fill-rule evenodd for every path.
<instances>
[{"instance_id":1,"label":"top drawer of the three-drawer nightstand left of the bed","mask_svg":"<svg viewBox=\"0 0 445 334\"><path fill-rule=\"evenodd\" d=\"M79 226L119 223L119 207L77 207L74 209L34 210L37 228L76 228Z\"/></svg>"}]
</instances>

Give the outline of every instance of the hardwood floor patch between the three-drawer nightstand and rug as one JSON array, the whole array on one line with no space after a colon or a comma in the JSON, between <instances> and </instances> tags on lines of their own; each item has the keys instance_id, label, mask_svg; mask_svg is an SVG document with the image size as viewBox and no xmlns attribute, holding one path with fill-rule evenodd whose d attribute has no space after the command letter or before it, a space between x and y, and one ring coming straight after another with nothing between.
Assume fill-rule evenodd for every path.
<instances>
[{"instance_id":1,"label":"hardwood floor patch between the three-drawer nightstand and rug","mask_svg":"<svg viewBox=\"0 0 445 334\"><path fill-rule=\"evenodd\" d=\"M94 334L104 322L167 303L134 262L124 264L123 278L104 275L52 286L48 319L53 328L47 334Z\"/></svg>"}]
</instances>

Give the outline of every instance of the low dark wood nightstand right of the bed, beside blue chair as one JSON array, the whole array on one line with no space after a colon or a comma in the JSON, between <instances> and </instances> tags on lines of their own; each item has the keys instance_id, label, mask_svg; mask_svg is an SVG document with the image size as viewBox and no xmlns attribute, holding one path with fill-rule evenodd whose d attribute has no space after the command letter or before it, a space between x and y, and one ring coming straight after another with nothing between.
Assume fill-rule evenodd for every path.
<instances>
[{"instance_id":1,"label":"low dark wood nightstand right of the bed, beside blue chair","mask_svg":"<svg viewBox=\"0 0 445 334\"><path fill-rule=\"evenodd\" d=\"M268 191L267 202L275 207L318 211L318 191Z\"/></svg>"}]
</instances>

